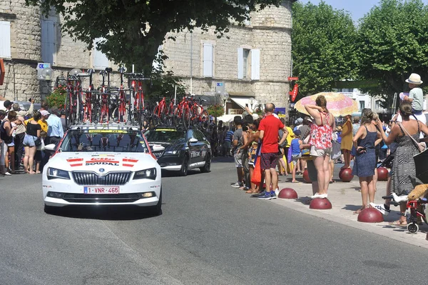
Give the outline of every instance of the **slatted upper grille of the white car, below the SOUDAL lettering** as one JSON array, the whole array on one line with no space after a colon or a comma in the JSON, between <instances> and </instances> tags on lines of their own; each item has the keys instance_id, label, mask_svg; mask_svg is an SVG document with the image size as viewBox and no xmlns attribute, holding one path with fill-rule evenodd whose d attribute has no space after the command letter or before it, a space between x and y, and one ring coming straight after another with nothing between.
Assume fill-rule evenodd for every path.
<instances>
[{"instance_id":1,"label":"slatted upper grille of the white car, below the SOUDAL lettering","mask_svg":"<svg viewBox=\"0 0 428 285\"><path fill-rule=\"evenodd\" d=\"M73 179L78 185L125 185L131 178L131 172L112 172L98 175L93 172L73 172Z\"/></svg>"}]
</instances>

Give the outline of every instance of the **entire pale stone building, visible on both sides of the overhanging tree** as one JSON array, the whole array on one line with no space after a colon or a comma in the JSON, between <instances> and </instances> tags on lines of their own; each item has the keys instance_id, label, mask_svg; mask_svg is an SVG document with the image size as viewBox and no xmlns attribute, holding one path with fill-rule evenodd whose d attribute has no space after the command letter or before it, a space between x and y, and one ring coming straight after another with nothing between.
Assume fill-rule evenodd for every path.
<instances>
[{"instance_id":1,"label":"entire pale stone building, visible on both sides of the overhanging tree","mask_svg":"<svg viewBox=\"0 0 428 285\"><path fill-rule=\"evenodd\" d=\"M183 77L191 94L215 94L215 87L223 83L230 96L229 114L242 112L251 97L255 104L272 101L287 106L291 4L282 1L279 7L252 13L245 26L231 26L221 39L213 31L181 32L176 41L167 40L162 46L169 57L167 69ZM60 26L61 17L51 14L45 19L38 7L26 6L25 0L0 0L0 57L6 67L0 96L26 101L49 94L54 80L37 78L41 62L51 64L53 79L73 68L117 69L101 52L88 51L83 43L61 34Z\"/></svg>"}]
</instances>

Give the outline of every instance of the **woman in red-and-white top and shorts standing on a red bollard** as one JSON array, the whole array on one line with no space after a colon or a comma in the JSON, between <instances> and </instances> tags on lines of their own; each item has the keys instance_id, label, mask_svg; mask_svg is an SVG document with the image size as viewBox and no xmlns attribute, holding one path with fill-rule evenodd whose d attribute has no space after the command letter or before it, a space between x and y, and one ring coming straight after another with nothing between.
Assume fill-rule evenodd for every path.
<instances>
[{"instance_id":1,"label":"woman in red-and-white top and shorts standing on a red bollard","mask_svg":"<svg viewBox=\"0 0 428 285\"><path fill-rule=\"evenodd\" d=\"M335 116L327 109L325 96L317 96L315 104L305 104L307 114L314 118L310 129L309 144L310 155L315 156L318 192L312 196L312 199L325 199L330 184L330 154L332 153L332 130L336 127Z\"/></svg>"}]
</instances>

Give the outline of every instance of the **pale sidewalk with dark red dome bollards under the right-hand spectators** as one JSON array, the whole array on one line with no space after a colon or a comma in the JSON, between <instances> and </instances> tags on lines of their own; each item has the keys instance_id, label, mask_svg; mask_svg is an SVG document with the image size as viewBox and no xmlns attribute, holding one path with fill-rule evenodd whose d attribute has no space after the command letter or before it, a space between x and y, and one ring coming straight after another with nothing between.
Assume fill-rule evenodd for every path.
<instances>
[{"instance_id":1,"label":"pale sidewalk with dark red dome bollards under the right-hand spectators","mask_svg":"<svg viewBox=\"0 0 428 285\"><path fill-rule=\"evenodd\" d=\"M417 234L409 234L406 227L402 226L390 226L388 223L399 219L399 207L391 206L391 212L388 216L384 216L384 222L382 223L361 223L357 221L357 214L353 214L354 211L360 209L362 205L360 183L358 177L354 177L351 182L342 182L335 179L336 183L330 184L328 189L328 199L332 203L332 209L330 210L312 210L309 209L309 205L305 205L303 202L307 201L312 196L311 184L304 182L291 183L291 176L280 176L279 177L279 188L292 188L295 189L299 199L275 199L273 203L280 206L285 206L296 211L300 211L305 214L317 216L322 219L329 221L335 221L346 226L352 226L356 229L368 231L372 234L379 234L389 239L395 239L402 241L407 244L420 246L428 249L428 241L425 240L425 236L428 231L427 224L419 226ZM297 180L302 181L302 176L297 176ZM387 187L386 181L377 182L377 192L374 199L374 203L383 204L384 200L382 196L385 195Z\"/></svg>"}]
</instances>

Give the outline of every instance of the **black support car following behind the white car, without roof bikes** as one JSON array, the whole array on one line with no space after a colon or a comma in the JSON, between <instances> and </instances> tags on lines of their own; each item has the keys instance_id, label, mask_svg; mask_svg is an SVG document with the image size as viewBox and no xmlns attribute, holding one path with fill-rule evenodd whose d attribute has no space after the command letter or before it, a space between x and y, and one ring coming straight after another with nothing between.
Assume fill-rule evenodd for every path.
<instances>
[{"instance_id":1,"label":"black support car following behind the white car, without roof bikes","mask_svg":"<svg viewBox=\"0 0 428 285\"><path fill-rule=\"evenodd\" d=\"M188 169L210 171L210 142L198 129L159 127L146 131L145 136L151 146L161 145L165 148L162 151L152 151L162 169L180 171L181 176L186 176Z\"/></svg>"}]
</instances>

